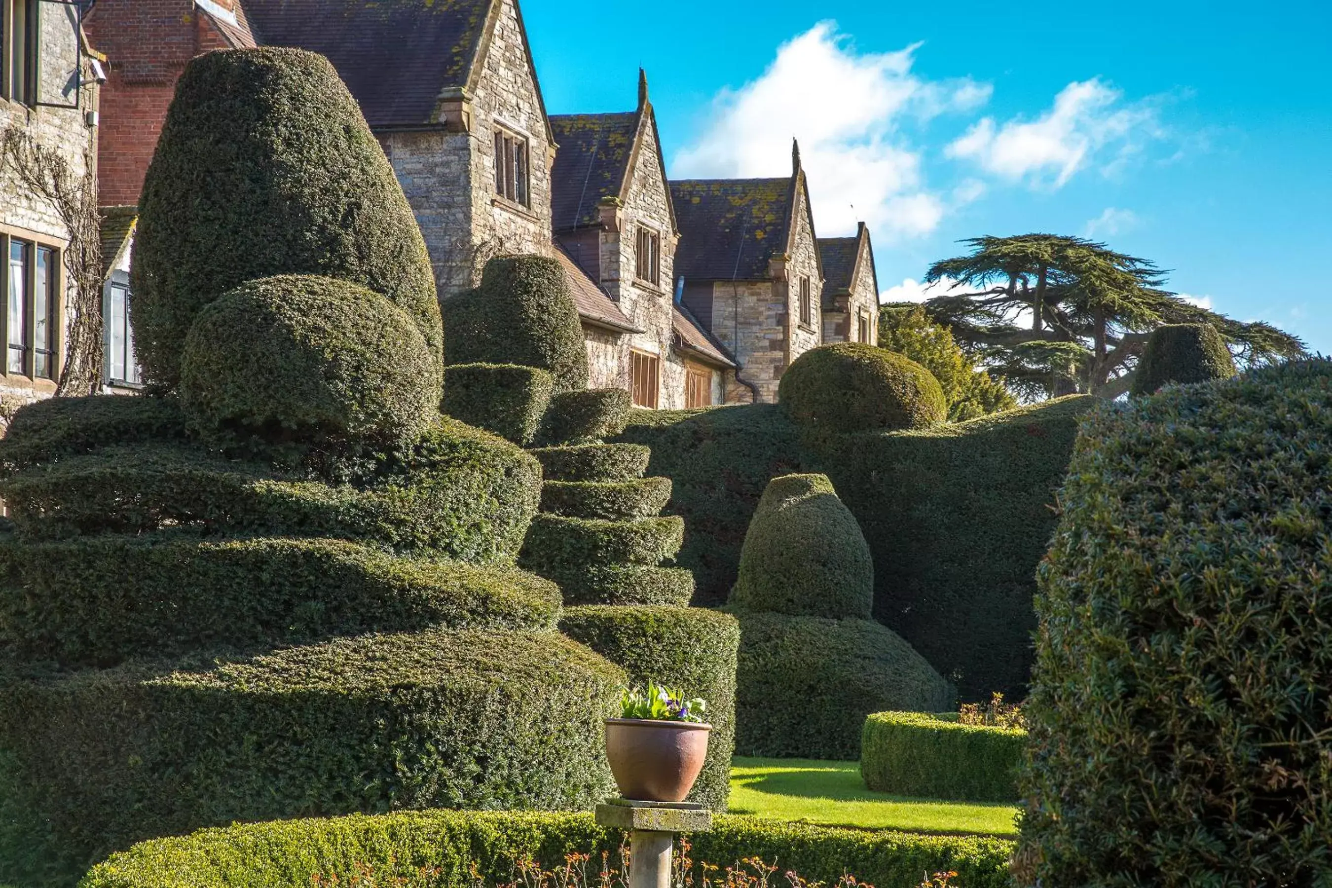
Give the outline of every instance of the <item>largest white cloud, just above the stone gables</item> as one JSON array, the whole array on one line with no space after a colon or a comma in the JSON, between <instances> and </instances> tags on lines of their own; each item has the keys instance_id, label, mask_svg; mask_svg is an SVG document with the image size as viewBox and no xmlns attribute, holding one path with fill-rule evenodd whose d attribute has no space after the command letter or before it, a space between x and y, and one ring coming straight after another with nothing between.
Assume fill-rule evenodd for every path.
<instances>
[{"instance_id":1,"label":"largest white cloud, just above the stone gables","mask_svg":"<svg viewBox=\"0 0 1332 888\"><path fill-rule=\"evenodd\" d=\"M900 128L972 111L991 88L922 80L911 72L918 48L862 53L834 23L815 25L783 44L757 80L717 96L709 125L675 156L671 174L789 176L797 137L821 236L852 233L856 221L880 244L934 230L954 201L926 186L920 152Z\"/></svg>"}]
</instances>

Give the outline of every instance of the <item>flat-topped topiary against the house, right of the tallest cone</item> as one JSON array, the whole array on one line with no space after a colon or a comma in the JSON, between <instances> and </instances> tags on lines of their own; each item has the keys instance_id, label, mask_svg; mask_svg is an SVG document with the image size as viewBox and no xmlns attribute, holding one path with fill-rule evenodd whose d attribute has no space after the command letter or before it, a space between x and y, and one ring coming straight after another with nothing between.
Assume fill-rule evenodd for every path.
<instances>
[{"instance_id":1,"label":"flat-topped topiary against the house, right of the tallest cone","mask_svg":"<svg viewBox=\"0 0 1332 888\"><path fill-rule=\"evenodd\" d=\"M563 266L542 256L486 264L481 286L444 301L449 363L521 363L549 370L555 391L587 387L587 346Z\"/></svg>"}]
</instances>

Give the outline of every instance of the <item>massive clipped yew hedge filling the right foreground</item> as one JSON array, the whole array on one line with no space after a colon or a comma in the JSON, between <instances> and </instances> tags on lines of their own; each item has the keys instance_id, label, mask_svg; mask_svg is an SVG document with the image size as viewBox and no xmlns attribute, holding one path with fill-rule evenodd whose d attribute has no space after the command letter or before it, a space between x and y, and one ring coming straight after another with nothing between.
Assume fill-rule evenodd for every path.
<instances>
[{"instance_id":1,"label":"massive clipped yew hedge filling the right foreground","mask_svg":"<svg viewBox=\"0 0 1332 888\"><path fill-rule=\"evenodd\" d=\"M1332 884L1332 363L1110 405L1040 568L1023 884Z\"/></svg>"}]
</instances>

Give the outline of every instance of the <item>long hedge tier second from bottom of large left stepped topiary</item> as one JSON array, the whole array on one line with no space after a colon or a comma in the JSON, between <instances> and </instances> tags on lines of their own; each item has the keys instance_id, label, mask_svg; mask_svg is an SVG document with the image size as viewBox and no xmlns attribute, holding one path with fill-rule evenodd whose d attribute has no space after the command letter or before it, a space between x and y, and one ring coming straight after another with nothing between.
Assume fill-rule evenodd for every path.
<instances>
[{"instance_id":1,"label":"long hedge tier second from bottom of large left stepped topiary","mask_svg":"<svg viewBox=\"0 0 1332 888\"><path fill-rule=\"evenodd\" d=\"M0 538L0 646L112 666L198 647L432 627L553 630L554 583L334 539Z\"/></svg>"}]
</instances>

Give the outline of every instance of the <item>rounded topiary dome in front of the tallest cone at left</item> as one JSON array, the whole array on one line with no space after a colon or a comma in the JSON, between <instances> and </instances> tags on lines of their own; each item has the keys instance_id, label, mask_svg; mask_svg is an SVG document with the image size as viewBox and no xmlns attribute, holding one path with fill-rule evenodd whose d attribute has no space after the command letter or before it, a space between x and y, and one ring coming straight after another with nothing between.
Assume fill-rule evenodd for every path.
<instances>
[{"instance_id":1,"label":"rounded topiary dome in front of the tallest cone at left","mask_svg":"<svg viewBox=\"0 0 1332 888\"><path fill-rule=\"evenodd\" d=\"M440 414L440 377L412 320L324 277L252 281L208 305L185 338L180 395L205 437L340 455L410 446Z\"/></svg>"}]
</instances>

